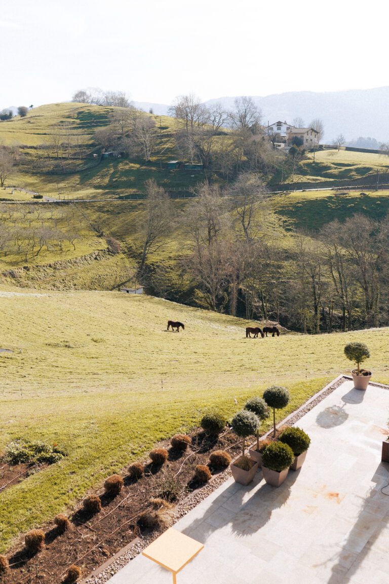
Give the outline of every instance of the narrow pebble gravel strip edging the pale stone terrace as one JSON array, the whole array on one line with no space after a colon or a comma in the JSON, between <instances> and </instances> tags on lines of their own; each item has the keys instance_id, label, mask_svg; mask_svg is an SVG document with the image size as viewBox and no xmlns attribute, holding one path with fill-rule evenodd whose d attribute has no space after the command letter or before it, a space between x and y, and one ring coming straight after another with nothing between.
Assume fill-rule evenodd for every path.
<instances>
[{"instance_id":1,"label":"narrow pebble gravel strip edging the pale stone terrace","mask_svg":"<svg viewBox=\"0 0 389 584\"><path fill-rule=\"evenodd\" d=\"M339 385L342 385L345 381L352 380L352 377L346 375L339 375L335 377L334 380L331 381L328 385L326 385L323 390L320 390L311 397L305 404L300 406L295 412L292 412L289 416L286 416L281 422L277 424L276 427L280 426L293 426L298 420L303 418L303 416L313 409L317 404L320 404L327 395L330 395L332 391L336 390ZM376 387L386 387L389 389L388 385L384 385L381 383L370 383L370 385L375 385ZM272 430L269 430L264 436L261 436L262 439L266 438L272 433ZM255 444L255 443L254 443ZM254 444L252 446L254 446ZM216 489L219 488L224 482L227 481L231 476L230 468L223 472L219 472L219 474L212 477L211 481L208 484L203 486L198 491L191 493L188 495L181 503L178 504L177 510L175 513L175 523L187 515L192 509L197 507L199 503L201 503L204 499L206 499L209 495L211 495ZM137 537L134 542L129 543L123 550L120 550L117 554L115 554L112 558L108 559L100 568L97 568L95 572L92 572L86 579L81 580L79 584L104 584L107 582L112 576L115 575L121 568L124 568L132 559L134 559L137 555L141 553L152 541L154 541L157 537L159 537L161 532L153 533L149 536L145 537Z\"/></svg>"}]
</instances>

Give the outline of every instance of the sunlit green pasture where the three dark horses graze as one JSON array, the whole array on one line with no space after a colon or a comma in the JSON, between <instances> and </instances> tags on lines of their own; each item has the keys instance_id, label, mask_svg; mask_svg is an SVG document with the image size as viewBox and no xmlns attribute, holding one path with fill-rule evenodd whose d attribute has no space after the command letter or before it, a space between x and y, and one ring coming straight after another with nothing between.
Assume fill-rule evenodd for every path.
<instances>
[{"instance_id":1,"label":"sunlit green pasture where the three dark horses graze","mask_svg":"<svg viewBox=\"0 0 389 584\"><path fill-rule=\"evenodd\" d=\"M246 339L246 321L120 293L1 293L0 448L17 436L64 447L64 461L1 493L5 550L12 538L73 505L111 471L218 406L288 385L302 404L347 371L348 340L369 345L388 381L389 330ZM166 332L167 319L185 331ZM285 411L280 415L285 415Z\"/></svg>"}]
</instances>

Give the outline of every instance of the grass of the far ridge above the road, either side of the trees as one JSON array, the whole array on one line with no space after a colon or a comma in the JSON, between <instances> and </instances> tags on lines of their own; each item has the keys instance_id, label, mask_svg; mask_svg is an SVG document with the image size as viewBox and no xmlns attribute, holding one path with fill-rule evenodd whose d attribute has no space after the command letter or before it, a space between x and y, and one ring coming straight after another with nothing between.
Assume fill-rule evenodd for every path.
<instances>
[{"instance_id":1,"label":"grass of the far ridge above the road, either side of the trees","mask_svg":"<svg viewBox=\"0 0 389 584\"><path fill-rule=\"evenodd\" d=\"M167 161L179 157L173 139L177 121L167 116L148 114L159 130L156 148L148 163L131 158L102 161L93 158L93 154L100 152L94 141L94 131L109 126L110 116L118 110L120 108L82 103L54 103L30 110L24 118L15 117L1 122L0 144L20 149L20 164L8 184L54 198L101 199L143 193L143 183L148 178L155 178L167 190L178 193L180 190L187 192L205 176L209 180L223 182L215 172L205 175L201 171L165 168ZM64 163L65 166L70 165L71 171L65 175L61 173L62 162L54 154L54 142L58 139L56 134L60 141L69 142L72 152L71 159ZM58 167L54 174L48 172L47 157L50 168ZM389 159L383 155L324 150L316 152L315 162L313 154L307 154L297 165L293 182L297 185L300 182L335 183L374 175L377 170L387 172L388 168ZM275 172L269 183L279 183L280 178L280 172ZM292 175L289 174L285 183L290 182ZM0 194L1 197L11 198L10 189ZM12 198L29 197L30 194L15 191Z\"/></svg>"}]
</instances>

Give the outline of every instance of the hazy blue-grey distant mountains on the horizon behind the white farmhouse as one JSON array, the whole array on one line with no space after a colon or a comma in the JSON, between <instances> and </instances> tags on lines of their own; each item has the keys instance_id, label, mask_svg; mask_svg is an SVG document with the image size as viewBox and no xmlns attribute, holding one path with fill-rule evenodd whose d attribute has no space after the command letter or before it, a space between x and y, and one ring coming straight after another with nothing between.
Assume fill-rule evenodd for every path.
<instances>
[{"instance_id":1,"label":"hazy blue-grey distant mountains on the horizon behind the white farmhouse","mask_svg":"<svg viewBox=\"0 0 389 584\"><path fill-rule=\"evenodd\" d=\"M323 142L328 143L338 134L346 140L370 136L379 142L389 141L389 86L374 89L349 89L348 91L293 91L274 95L251 96L262 110L263 123L270 124L302 117L306 124L316 117L324 123ZM220 102L233 109L235 97L209 99L206 103ZM163 116L169 105L164 103L134 102L146 112Z\"/></svg>"}]
</instances>

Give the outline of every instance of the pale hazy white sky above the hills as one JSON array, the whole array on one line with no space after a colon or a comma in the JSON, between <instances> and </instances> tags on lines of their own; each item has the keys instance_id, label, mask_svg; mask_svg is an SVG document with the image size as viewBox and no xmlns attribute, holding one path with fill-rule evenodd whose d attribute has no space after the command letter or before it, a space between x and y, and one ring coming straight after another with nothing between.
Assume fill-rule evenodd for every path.
<instances>
[{"instance_id":1,"label":"pale hazy white sky above the hills","mask_svg":"<svg viewBox=\"0 0 389 584\"><path fill-rule=\"evenodd\" d=\"M389 85L387 0L0 0L0 109Z\"/></svg>"}]
</instances>

